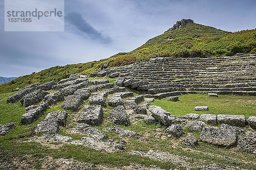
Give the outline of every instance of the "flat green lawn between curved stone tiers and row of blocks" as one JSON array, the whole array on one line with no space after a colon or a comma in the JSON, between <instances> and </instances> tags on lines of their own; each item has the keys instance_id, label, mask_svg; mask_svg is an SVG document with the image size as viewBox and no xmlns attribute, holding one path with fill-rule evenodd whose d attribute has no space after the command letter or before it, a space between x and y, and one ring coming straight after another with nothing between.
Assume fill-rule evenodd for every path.
<instances>
[{"instance_id":1,"label":"flat green lawn between curved stone tiers and row of blocks","mask_svg":"<svg viewBox=\"0 0 256 170\"><path fill-rule=\"evenodd\" d=\"M186 115L188 113L209 114L236 114L255 116L255 96L218 95L209 97L207 94L181 95L179 101L172 102L166 99L156 99L150 105L158 105L172 115ZM209 106L209 111L194 111L195 106Z\"/></svg>"}]
</instances>

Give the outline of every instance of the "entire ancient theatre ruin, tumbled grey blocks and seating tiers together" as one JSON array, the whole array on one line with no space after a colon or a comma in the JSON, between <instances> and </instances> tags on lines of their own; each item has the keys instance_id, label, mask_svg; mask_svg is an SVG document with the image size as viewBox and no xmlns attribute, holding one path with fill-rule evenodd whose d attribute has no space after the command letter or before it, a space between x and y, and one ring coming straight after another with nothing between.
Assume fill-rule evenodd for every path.
<instances>
[{"instance_id":1,"label":"entire ancient theatre ruin, tumbled grey blocks and seating tiers together","mask_svg":"<svg viewBox=\"0 0 256 170\"><path fill-rule=\"evenodd\" d=\"M255 96L255 65L255 55L240 56L240 61L237 61L236 56L154 58L148 62L104 69L90 75L116 77L116 84L105 78L89 80L84 75L71 75L58 83L29 85L9 96L7 103L20 101L26 107L26 112L20 117L21 123L25 125L46 115L35 130L42 136L31 141L83 145L105 153L125 152L125 143L129 140L149 140L136 130L129 130L128 127L139 120L145 124L160 124L165 136L180 139L179 144L182 146L192 147L205 142L256 154L256 116L246 119L242 113L208 114L207 111L211 109L208 106L197 106L195 113L174 116L160 106L149 107L154 99L167 98L170 102L177 102L182 94L208 94L207 97L221 94ZM133 91L139 91L140 95L134 95ZM45 113L47 108L56 104L61 105L61 110ZM197 111L203 114L197 114ZM73 113L73 116L69 113ZM68 117L72 119L72 128L66 125ZM104 121L109 123L109 127L99 128ZM0 125L0 135L5 135L13 127L12 123ZM60 128L83 137L76 140L59 135ZM187 135L185 129L189 130ZM192 135L194 132L200 136ZM114 133L123 141L110 139L109 133ZM157 150L134 150L129 154L192 168L187 163L191 160L186 156ZM209 167L215 165L198 164L196 168Z\"/></svg>"}]
</instances>

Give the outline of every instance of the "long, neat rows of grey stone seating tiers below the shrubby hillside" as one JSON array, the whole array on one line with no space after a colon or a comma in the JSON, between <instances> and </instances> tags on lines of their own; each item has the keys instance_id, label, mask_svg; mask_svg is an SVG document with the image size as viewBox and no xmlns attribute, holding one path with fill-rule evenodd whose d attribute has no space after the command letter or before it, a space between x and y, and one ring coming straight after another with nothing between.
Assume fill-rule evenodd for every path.
<instances>
[{"instance_id":1,"label":"long, neat rows of grey stone seating tiers below the shrubby hillside","mask_svg":"<svg viewBox=\"0 0 256 170\"><path fill-rule=\"evenodd\" d=\"M239 60L238 60L239 59ZM114 75L114 76L113 76ZM164 99L182 94L256 96L256 56L210 58L151 58L90 77L116 77L116 85Z\"/></svg>"}]
</instances>

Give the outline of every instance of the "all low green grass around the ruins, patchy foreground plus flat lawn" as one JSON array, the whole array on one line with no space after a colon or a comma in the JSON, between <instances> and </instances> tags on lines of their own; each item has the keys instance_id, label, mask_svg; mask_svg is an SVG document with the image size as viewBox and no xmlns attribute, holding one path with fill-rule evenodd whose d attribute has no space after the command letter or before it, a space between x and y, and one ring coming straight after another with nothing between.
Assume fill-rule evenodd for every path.
<instances>
[{"instance_id":1,"label":"all low green grass around the ruins, patchy foreground plus flat lawn","mask_svg":"<svg viewBox=\"0 0 256 170\"><path fill-rule=\"evenodd\" d=\"M130 126L121 126L129 130L138 132L141 136L148 138L148 141L140 141L139 139L126 140L125 150L123 153L102 153L83 146L76 146L64 144L61 147L46 147L37 142L26 142L35 134L35 127L38 122L42 121L45 114L37 121L30 125L21 125L20 117L25 113L25 109L20 105L20 102L14 104L6 104L6 98L13 93L0 94L0 124L5 125L9 122L15 122L16 126L6 136L0 136L0 170L1 163L11 163L14 159L25 160L30 167L34 169L41 169L45 157L52 157L54 159L66 158L75 159L81 162L88 162L91 164L104 164L113 167L121 167L124 165L144 164L157 165L163 169L177 168L171 162L154 161L152 159L131 156L130 151L139 150L148 152L148 150L160 150L180 156L187 156L190 158L189 164L200 162L201 164L225 164L239 168L256 169L256 156L242 152L234 148L217 147L211 144L199 142L195 147L185 147L181 144L181 139L190 132L184 129L184 135L181 139L174 137L159 137L156 134L165 134L166 127L160 124L147 125L143 120L137 120ZM159 105L170 111L175 115L184 115L186 113L193 113L193 108L196 105L208 105L209 111L206 113L229 113L229 114L244 114L246 116L254 115L256 111L256 97L250 96L219 96L208 97L206 95L185 95L180 96L180 101L170 102L167 100L155 100L151 105ZM84 101L87 103L87 101ZM61 110L61 102L49 108L47 112ZM104 108L104 121L102 125L95 128L103 130L105 127L114 126L109 118L109 111L111 107ZM226 111L225 111L226 110ZM225 112L224 112L225 111ZM68 111L66 127L61 128L60 134L71 136L74 139L81 139L83 135L74 135L68 132L68 129L74 127L73 116L76 114ZM200 113L200 112L198 112ZM205 112L204 112L205 113ZM106 132L108 139L113 139L114 142L120 142L122 139L112 132ZM195 136L199 133L193 132ZM54 144L53 144L54 145ZM17 167L12 167L17 169ZM92 168L95 169L95 168ZM184 170L184 167L178 167L179 170Z\"/></svg>"}]
</instances>

